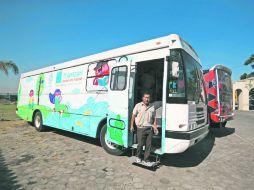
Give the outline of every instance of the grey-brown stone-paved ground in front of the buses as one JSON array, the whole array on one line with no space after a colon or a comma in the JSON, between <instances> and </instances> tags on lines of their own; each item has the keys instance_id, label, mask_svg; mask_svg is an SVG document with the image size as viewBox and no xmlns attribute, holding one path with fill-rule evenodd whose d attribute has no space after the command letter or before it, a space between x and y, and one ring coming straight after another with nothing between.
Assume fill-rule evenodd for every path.
<instances>
[{"instance_id":1,"label":"grey-brown stone-paved ground in front of the buses","mask_svg":"<svg viewBox=\"0 0 254 190\"><path fill-rule=\"evenodd\" d=\"M156 172L108 155L98 141L63 131L36 132L0 122L0 189L253 189L254 112L236 112Z\"/></svg>"}]
</instances>

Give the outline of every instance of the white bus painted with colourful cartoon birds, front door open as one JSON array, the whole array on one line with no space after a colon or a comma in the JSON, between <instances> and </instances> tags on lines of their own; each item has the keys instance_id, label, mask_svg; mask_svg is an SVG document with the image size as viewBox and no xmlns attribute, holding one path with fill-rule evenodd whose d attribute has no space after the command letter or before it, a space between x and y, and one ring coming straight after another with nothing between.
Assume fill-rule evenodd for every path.
<instances>
[{"instance_id":1,"label":"white bus painted with colourful cartoon birds, front door open","mask_svg":"<svg viewBox=\"0 0 254 190\"><path fill-rule=\"evenodd\" d=\"M49 66L21 75L17 114L46 127L100 138L110 154L137 146L134 105L148 91L159 136L153 153L181 153L208 134L202 67L176 34Z\"/></svg>"}]
</instances>

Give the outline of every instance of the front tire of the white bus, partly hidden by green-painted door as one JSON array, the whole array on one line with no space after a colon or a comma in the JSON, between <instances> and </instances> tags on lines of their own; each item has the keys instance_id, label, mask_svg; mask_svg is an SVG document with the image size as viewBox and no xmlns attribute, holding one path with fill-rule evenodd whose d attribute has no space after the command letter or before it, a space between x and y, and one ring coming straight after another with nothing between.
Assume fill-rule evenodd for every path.
<instances>
[{"instance_id":1,"label":"front tire of the white bus, partly hidden by green-painted door","mask_svg":"<svg viewBox=\"0 0 254 190\"><path fill-rule=\"evenodd\" d=\"M104 124L100 132L100 142L102 148L111 155L121 156L124 153L124 150L121 149L119 146L113 145L112 143L108 142L106 135L107 135L107 124Z\"/></svg>"}]
</instances>

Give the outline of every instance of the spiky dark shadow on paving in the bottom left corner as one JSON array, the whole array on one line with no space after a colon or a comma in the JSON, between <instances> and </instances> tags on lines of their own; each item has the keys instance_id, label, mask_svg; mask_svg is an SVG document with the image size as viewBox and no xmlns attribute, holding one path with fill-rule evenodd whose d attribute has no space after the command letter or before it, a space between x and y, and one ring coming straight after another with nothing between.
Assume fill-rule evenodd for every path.
<instances>
[{"instance_id":1,"label":"spiky dark shadow on paving in the bottom left corner","mask_svg":"<svg viewBox=\"0 0 254 190\"><path fill-rule=\"evenodd\" d=\"M21 186L17 182L17 176L14 172L8 169L2 151L0 150L0 189L19 189Z\"/></svg>"}]
</instances>

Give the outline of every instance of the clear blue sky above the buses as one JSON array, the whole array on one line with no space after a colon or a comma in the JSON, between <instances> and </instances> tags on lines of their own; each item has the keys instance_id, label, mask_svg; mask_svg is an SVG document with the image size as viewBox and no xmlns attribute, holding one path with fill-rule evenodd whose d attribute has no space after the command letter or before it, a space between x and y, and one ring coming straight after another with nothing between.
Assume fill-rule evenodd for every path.
<instances>
[{"instance_id":1,"label":"clear blue sky above the buses","mask_svg":"<svg viewBox=\"0 0 254 190\"><path fill-rule=\"evenodd\" d=\"M20 73L179 34L208 69L223 64L238 80L254 54L254 0L0 0L0 60ZM0 92L20 75L0 72Z\"/></svg>"}]
</instances>

